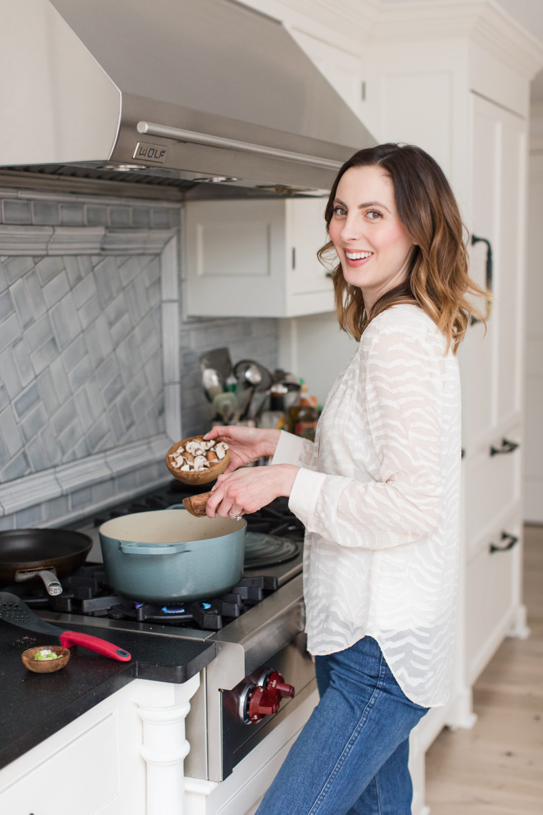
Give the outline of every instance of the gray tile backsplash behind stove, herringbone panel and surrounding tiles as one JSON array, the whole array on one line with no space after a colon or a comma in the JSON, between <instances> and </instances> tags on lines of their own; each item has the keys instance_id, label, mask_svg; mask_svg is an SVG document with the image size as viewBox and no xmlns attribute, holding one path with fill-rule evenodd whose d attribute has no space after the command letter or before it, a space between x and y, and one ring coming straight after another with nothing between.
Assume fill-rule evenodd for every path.
<instances>
[{"instance_id":1,"label":"gray tile backsplash behind stove, herringbone panel and surrounding tiles","mask_svg":"<svg viewBox=\"0 0 543 815\"><path fill-rule=\"evenodd\" d=\"M23 196L24 197L24 196ZM27 196L32 197L32 196ZM2 198L0 223L172 229L172 205L88 198ZM26 245L25 245L26 246ZM94 251L91 249L90 251ZM182 290L182 289L181 289ZM182 319L182 434L208 429L199 355L228 346L234 362L278 360L276 319ZM164 432L158 255L0 257L0 484ZM142 491L167 478L160 460L0 517L35 526Z\"/></svg>"}]
</instances>

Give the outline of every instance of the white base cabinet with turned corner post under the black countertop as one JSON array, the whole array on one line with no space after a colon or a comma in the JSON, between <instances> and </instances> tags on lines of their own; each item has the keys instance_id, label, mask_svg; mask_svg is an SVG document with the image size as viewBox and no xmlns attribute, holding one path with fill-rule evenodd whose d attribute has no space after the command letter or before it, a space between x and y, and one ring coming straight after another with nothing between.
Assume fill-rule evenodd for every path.
<instances>
[{"instance_id":1,"label":"white base cabinet with turned corner post under the black countertop","mask_svg":"<svg viewBox=\"0 0 543 815\"><path fill-rule=\"evenodd\" d=\"M183 761L198 686L199 675L182 685L131 681L0 769L0 813L194 815Z\"/></svg>"}]
</instances>

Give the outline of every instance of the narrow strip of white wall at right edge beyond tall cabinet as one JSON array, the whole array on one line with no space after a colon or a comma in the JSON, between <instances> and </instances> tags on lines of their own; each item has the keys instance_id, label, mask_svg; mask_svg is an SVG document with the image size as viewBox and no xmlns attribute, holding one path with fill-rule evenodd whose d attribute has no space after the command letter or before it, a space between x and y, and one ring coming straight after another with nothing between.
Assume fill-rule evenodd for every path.
<instances>
[{"instance_id":1,"label":"narrow strip of white wall at right edge beyond tall cabinet","mask_svg":"<svg viewBox=\"0 0 543 815\"><path fill-rule=\"evenodd\" d=\"M532 105L528 165L524 518L543 523L543 102Z\"/></svg>"}]
</instances>

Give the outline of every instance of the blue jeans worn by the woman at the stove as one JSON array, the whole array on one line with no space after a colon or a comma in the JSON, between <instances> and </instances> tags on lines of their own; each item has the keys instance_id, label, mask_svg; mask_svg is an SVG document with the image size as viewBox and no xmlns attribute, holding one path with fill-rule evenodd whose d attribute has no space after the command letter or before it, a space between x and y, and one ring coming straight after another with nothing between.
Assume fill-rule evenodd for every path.
<instances>
[{"instance_id":1,"label":"blue jeans worn by the woman at the stove","mask_svg":"<svg viewBox=\"0 0 543 815\"><path fill-rule=\"evenodd\" d=\"M428 708L405 696L372 637L315 667L321 701L256 815L411 815L409 732Z\"/></svg>"}]
</instances>

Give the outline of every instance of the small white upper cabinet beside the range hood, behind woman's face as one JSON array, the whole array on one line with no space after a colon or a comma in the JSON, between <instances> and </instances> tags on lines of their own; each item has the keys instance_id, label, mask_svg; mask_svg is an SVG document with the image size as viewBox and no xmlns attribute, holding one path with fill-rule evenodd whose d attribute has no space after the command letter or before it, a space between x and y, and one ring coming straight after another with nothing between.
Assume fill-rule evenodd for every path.
<instances>
[{"instance_id":1,"label":"small white upper cabinet beside the range hood, behind woman's face","mask_svg":"<svg viewBox=\"0 0 543 815\"><path fill-rule=\"evenodd\" d=\"M188 314L331 311L331 280L316 255L326 242L325 205L324 198L188 202Z\"/></svg>"}]
</instances>

